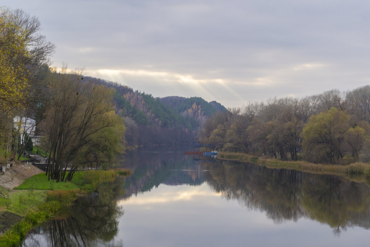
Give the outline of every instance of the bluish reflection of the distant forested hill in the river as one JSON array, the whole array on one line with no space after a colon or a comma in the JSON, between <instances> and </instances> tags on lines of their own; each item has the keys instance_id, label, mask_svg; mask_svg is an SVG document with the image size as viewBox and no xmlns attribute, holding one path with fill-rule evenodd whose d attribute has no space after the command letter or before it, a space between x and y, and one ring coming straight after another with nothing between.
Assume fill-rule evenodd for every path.
<instances>
[{"instance_id":1,"label":"bluish reflection of the distant forested hill in the river","mask_svg":"<svg viewBox=\"0 0 370 247\"><path fill-rule=\"evenodd\" d=\"M150 147L132 151L122 164L131 170L126 178L126 196L151 191L159 184L201 185L204 182L200 159L214 160L213 157L187 156L186 146Z\"/></svg>"}]
</instances>

